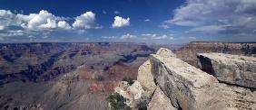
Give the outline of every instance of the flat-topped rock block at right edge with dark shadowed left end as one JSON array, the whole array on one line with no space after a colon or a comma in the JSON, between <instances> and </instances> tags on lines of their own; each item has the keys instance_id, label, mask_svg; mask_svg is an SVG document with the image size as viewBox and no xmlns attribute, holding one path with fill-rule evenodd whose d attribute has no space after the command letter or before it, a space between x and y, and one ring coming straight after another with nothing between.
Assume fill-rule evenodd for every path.
<instances>
[{"instance_id":1,"label":"flat-topped rock block at right edge with dark shadowed left end","mask_svg":"<svg viewBox=\"0 0 256 110\"><path fill-rule=\"evenodd\" d=\"M223 53L198 54L200 68L218 80L256 88L256 58Z\"/></svg>"}]
</instances>

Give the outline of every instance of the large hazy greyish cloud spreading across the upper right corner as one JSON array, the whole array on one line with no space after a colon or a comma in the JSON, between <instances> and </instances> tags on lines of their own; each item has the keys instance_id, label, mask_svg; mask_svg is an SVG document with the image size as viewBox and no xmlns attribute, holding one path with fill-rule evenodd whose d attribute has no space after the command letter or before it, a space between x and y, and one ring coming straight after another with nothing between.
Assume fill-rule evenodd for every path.
<instances>
[{"instance_id":1,"label":"large hazy greyish cloud spreading across the upper right corner","mask_svg":"<svg viewBox=\"0 0 256 110\"><path fill-rule=\"evenodd\" d=\"M255 0L187 0L163 24L188 26L191 32L251 33L256 29L255 5Z\"/></svg>"}]
</instances>

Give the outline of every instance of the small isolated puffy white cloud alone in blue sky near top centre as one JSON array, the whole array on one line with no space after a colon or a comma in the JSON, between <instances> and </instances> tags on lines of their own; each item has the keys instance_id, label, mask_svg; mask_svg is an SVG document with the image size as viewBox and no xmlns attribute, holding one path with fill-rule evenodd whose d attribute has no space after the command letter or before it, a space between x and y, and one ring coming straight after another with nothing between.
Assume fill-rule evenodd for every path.
<instances>
[{"instance_id":1,"label":"small isolated puffy white cloud alone in blue sky near top centre","mask_svg":"<svg viewBox=\"0 0 256 110\"><path fill-rule=\"evenodd\" d=\"M120 28L124 26L129 26L129 25L130 25L130 18L128 17L127 19L125 19L120 16L115 16L112 24L113 28Z\"/></svg>"}]
</instances>

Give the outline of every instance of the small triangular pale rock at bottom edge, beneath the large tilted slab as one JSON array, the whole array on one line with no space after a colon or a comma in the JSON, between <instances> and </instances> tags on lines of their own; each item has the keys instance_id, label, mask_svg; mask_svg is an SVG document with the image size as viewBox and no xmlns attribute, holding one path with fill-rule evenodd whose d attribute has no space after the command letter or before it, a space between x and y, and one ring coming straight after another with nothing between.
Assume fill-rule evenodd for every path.
<instances>
[{"instance_id":1,"label":"small triangular pale rock at bottom edge, beneath the large tilted slab","mask_svg":"<svg viewBox=\"0 0 256 110\"><path fill-rule=\"evenodd\" d=\"M171 104L171 100L166 96L162 90L157 87L153 93L151 102L147 106L148 110L177 110Z\"/></svg>"}]
</instances>

